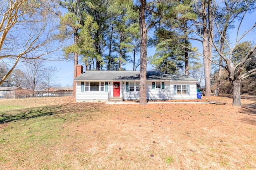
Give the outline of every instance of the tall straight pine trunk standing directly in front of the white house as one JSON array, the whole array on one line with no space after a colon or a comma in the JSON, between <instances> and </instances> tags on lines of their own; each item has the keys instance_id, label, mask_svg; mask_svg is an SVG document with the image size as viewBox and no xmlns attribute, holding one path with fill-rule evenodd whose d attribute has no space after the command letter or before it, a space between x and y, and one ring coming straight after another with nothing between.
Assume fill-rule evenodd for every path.
<instances>
[{"instance_id":1,"label":"tall straight pine trunk standing directly in front of the white house","mask_svg":"<svg viewBox=\"0 0 256 170\"><path fill-rule=\"evenodd\" d=\"M146 0L140 0L140 105L147 104L147 29L145 23Z\"/></svg>"}]
</instances>

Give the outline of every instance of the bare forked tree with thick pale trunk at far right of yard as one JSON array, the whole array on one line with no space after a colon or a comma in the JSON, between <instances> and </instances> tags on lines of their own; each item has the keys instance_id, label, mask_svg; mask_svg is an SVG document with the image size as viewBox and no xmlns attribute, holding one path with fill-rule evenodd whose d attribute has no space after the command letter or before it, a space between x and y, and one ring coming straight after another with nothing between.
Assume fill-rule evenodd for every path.
<instances>
[{"instance_id":1,"label":"bare forked tree with thick pale trunk at far right of yard","mask_svg":"<svg viewBox=\"0 0 256 170\"><path fill-rule=\"evenodd\" d=\"M255 58L253 54L254 54L254 51L256 50L256 44L254 43L254 45L252 45L252 47L250 48L250 50L248 50L246 54L243 54L240 56L239 62L233 63L232 60L233 60L234 50L236 49L236 47L238 47L239 43L243 41L243 38L248 33L250 33L250 31L255 31L256 23L252 23L251 27L246 25L246 27L249 27L247 29L245 29L245 26L244 26L244 19L246 18L246 15L256 8L255 0L244 0L244 1L222 0L221 3L219 3L218 6L216 6L214 9L220 8L222 12L228 14L229 16L233 16L233 15L237 16L236 14L240 14L240 17L228 18L230 22L233 20L237 20L238 22L238 26L235 29L236 39L234 41L229 41L228 39L226 39L226 34L224 34L225 32L222 31L222 25L223 23L227 23L227 21L225 19L220 20L218 18L218 13L214 12L215 27L217 29L217 34L219 35L218 37L220 37L220 40L217 42L222 43L222 41L224 41L224 43L228 48L228 53L227 54L223 53L222 49L218 46L218 43L216 43L216 41L212 41L212 43L213 43L214 49L217 51L220 57L222 57L222 59L224 60L224 64L221 64L221 63L220 64L216 63L216 64L221 65L223 68L225 68L228 71L228 79L233 89L233 105L241 106L241 94L240 94L241 81L244 78L252 74L255 74L256 68L248 70L245 73L243 73L242 70L244 66L246 66L246 63L248 61L250 61L252 58ZM223 4L226 4L226 6ZM222 8L222 5L224 6L224 8ZM230 8L232 10L230 10ZM228 11L229 13L225 12L227 10L229 10ZM231 28L233 28L232 25L228 25L227 29L231 29ZM243 29L245 29L245 31L243 31ZM210 35L211 35L211 39L213 40L214 35L212 34L212 32L210 32Z\"/></svg>"}]
</instances>

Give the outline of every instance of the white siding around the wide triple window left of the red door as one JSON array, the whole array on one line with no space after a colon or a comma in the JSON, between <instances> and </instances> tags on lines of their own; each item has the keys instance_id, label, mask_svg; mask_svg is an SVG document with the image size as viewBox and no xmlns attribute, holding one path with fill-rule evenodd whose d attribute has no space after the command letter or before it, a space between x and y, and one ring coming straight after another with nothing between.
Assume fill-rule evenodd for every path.
<instances>
[{"instance_id":1,"label":"white siding around the wide triple window left of the red door","mask_svg":"<svg viewBox=\"0 0 256 170\"><path fill-rule=\"evenodd\" d=\"M81 92L81 82L85 82L86 81L76 81L76 102L97 102L97 101L101 101L101 102L106 102L108 100L108 92L110 91L110 85L108 82L108 92L105 92L105 88L104 88L104 92ZM94 81L97 82L97 81ZM103 82L103 81L100 81ZM105 84L105 81L104 81ZM89 83L90 85L90 83Z\"/></svg>"}]
</instances>

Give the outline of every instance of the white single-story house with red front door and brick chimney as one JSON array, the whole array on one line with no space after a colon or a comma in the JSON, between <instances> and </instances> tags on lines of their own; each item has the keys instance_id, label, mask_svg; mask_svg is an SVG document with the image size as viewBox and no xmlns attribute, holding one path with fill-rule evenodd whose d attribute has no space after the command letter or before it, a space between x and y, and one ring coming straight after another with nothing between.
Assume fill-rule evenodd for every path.
<instances>
[{"instance_id":1,"label":"white single-story house with red front door and brick chimney","mask_svg":"<svg viewBox=\"0 0 256 170\"><path fill-rule=\"evenodd\" d=\"M83 68L83 67L82 67ZM82 72L82 68L78 69ZM79 75L80 74L80 75ZM77 72L76 102L139 100L140 71ZM196 99L198 81L185 74L147 71L147 100Z\"/></svg>"}]
</instances>

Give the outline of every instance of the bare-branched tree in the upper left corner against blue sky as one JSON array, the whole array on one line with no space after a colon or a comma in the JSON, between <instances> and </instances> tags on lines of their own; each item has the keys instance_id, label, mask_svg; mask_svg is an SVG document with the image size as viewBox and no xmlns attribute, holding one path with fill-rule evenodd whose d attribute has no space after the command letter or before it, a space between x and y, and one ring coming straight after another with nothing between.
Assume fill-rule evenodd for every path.
<instances>
[{"instance_id":1,"label":"bare-branched tree in the upper left corner against blue sky","mask_svg":"<svg viewBox=\"0 0 256 170\"><path fill-rule=\"evenodd\" d=\"M56 36L57 8L54 0L3 0L0 2L0 61L8 61L10 69L0 84L11 74L18 62L50 56L60 49ZM52 56L56 56L52 55Z\"/></svg>"}]
</instances>

